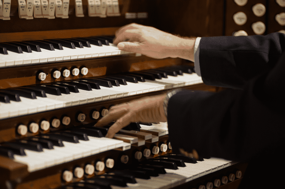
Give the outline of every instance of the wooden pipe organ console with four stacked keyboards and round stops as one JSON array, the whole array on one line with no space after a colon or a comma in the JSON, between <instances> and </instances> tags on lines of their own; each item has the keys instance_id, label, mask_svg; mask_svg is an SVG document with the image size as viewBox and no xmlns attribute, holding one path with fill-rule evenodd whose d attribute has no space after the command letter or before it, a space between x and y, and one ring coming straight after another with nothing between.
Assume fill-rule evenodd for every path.
<instances>
[{"instance_id":1,"label":"wooden pipe organ console with four stacked keyboards and round stops","mask_svg":"<svg viewBox=\"0 0 285 189\"><path fill-rule=\"evenodd\" d=\"M167 123L131 123L113 139L104 137L112 123L94 127L122 102L178 87L220 90L191 62L123 52L113 37L132 22L188 37L284 32L284 6L0 0L0 188L237 188L246 163L173 154Z\"/></svg>"}]
</instances>

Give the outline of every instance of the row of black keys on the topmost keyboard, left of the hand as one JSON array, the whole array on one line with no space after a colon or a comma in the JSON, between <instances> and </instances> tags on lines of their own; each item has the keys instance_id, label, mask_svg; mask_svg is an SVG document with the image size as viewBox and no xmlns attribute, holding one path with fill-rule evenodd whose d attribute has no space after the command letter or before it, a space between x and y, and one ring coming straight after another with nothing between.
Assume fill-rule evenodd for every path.
<instances>
[{"instance_id":1,"label":"row of black keys on the topmost keyboard, left of the hand","mask_svg":"<svg viewBox=\"0 0 285 189\"><path fill-rule=\"evenodd\" d=\"M110 36L90 36L86 38L64 38L64 39L45 39L35 41L6 42L0 43L0 53L7 55L8 51L23 53L24 52L41 52L41 48L54 51L55 49L63 50L62 47L75 49L75 47L91 47L90 44L101 47L113 43Z\"/></svg>"}]
</instances>

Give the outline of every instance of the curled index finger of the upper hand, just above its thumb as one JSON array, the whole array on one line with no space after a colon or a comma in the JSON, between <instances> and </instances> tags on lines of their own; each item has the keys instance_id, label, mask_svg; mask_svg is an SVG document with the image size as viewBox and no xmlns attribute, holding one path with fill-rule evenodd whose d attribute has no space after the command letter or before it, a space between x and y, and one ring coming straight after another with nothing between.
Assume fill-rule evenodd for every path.
<instances>
[{"instance_id":1,"label":"curled index finger of the upper hand, just above its thumb","mask_svg":"<svg viewBox=\"0 0 285 189\"><path fill-rule=\"evenodd\" d=\"M113 40L113 44L117 45L123 41L140 41L140 30L139 29L127 29L119 35L116 35L116 38Z\"/></svg>"}]
</instances>

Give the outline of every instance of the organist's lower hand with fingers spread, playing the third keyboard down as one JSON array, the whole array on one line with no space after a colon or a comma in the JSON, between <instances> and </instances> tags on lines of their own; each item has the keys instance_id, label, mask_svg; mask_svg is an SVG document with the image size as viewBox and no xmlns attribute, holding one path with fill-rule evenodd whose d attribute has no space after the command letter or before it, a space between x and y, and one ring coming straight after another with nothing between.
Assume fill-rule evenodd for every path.
<instances>
[{"instance_id":1,"label":"organist's lower hand with fingers spread, playing the third keyboard down","mask_svg":"<svg viewBox=\"0 0 285 189\"><path fill-rule=\"evenodd\" d=\"M157 123L166 122L163 101L165 94L154 97L140 98L126 102L109 109L109 113L102 117L95 126L103 126L116 121L108 130L106 137L113 138L115 133L131 122Z\"/></svg>"}]
</instances>

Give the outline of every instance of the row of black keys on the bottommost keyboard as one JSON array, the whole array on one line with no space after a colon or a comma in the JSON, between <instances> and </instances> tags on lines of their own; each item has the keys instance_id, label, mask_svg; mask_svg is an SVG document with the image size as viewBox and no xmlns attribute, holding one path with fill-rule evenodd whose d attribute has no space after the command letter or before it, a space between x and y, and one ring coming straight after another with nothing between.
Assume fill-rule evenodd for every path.
<instances>
[{"instance_id":1,"label":"row of black keys on the bottommost keyboard","mask_svg":"<svg viewBox=\"0 0 285 189\"><path fill-rule=\"evenodd\" d=\"M138 164L132 164L128 169L113 170L103 175L96 175L93 178L87 178L84 182L75 182L68 187L62 187L62 189L111 189L110 185L126 187L127 183L137 183L135 178L150 179L150 177L157 177L159 174L165 174L165 169L169 169L168 166L151 164L150 162L171 162L178 165L178 167L185 167L185 163L197 163L196 160L188 158L183 155L166 154L156 158L152 158ZM176 162L176 163L175 163Z\"/></svg>"}]
</instances>

